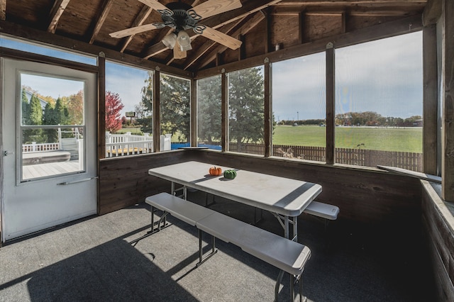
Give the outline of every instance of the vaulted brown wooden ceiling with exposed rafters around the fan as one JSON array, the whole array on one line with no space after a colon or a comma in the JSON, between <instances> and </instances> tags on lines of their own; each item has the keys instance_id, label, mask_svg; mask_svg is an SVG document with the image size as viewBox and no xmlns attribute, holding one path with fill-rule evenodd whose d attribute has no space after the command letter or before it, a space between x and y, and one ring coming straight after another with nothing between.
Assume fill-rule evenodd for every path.
<instances>
[{"instance_id":1,"label":"vaulted brown wooden ceiling with exposed rafters around the fan","mask_svg":"<svg viewBox=\"0 0 454 302\"><path fill-rule=\"evenodd\" d=\"M168 4L177 0L159 0ZM181 0L197 6L209 0ZM206 26L243 42L237 50L190 32L192 50L175 59L162 38L171 28L125 38L109 33L162 22L138 0L0 0L0 18L188 71L263 55L423 13L428 0L241 0L242 6L204 18ZM146 2L146 1L145 1ZM189 31L188 31L189 33Z\"/></svg>"}]
</instances>

